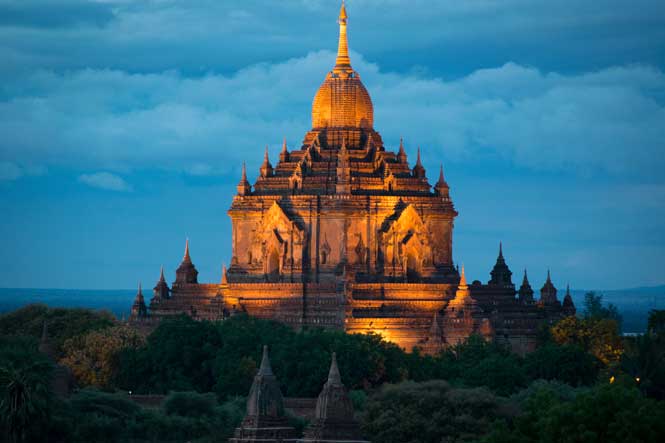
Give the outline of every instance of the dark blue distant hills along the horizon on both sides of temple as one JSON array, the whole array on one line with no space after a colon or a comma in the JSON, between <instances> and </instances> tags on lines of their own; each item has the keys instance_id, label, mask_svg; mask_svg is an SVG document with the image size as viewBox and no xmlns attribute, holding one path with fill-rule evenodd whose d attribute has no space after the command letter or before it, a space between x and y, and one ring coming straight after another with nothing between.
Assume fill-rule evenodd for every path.
<instances>
[{"instance_id":1,"label":"dark blue distant hills along the horizon on both sides of temple","mask_svg":"<svg viewBox=\"0 0 665 443\"><path fill-rule=\"evenodd\" d=\"M651 309L665 309L665 285L631 289L599 291L571 289L573 301L579 312L584 307L584 294L594 291L603 295L605 303L615 304L623 316L624 332L643 332ZM152 291L144 293L150 300ZM563 298L565 289L559 291ZM81 307L107 309L118 318L129 315L135 289L10 289L0 288L0 313L13 311L30 303L44 303L52 307Z\"/></svg>"}]
</instances>

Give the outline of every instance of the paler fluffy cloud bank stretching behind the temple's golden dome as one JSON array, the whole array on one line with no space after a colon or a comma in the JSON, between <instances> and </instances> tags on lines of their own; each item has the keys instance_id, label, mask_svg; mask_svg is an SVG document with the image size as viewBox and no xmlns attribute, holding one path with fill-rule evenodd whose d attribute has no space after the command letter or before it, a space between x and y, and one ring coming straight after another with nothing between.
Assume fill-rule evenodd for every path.
<instances>
[{"instance_id":1,"label":"paler fluffy cloud bank stretching behind the temple's golden dome","mask_svg":"<svg viewBox=\"0 0 665 443\"><path fill-rule=\"evenodd\" d=\"M229 76L39 71L0 102L0 161L80 169L226 174L258 168L286 136L299 148L328 51ZM357 53L391 149L404 136L425 161L502 158L534 171L662 182L665 74L631 65L582 74L506 63L456 79L383 72Z\"/></svg>"}]
</instances>

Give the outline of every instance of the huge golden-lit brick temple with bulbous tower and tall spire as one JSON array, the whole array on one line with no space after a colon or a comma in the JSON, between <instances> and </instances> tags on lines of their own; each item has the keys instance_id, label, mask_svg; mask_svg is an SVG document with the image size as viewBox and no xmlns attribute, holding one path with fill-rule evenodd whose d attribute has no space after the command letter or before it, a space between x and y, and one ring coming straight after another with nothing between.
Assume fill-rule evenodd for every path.
<instances>
[{"instance_id":1,"label":"huge golden-lit brick temple with bulbous tower and tall spire","mask_svg":"<svg viewBox=\"0 0 665 443\"><path fill-rule=\"evenodd\" d=\"M499 247L486 284L468 284L453 262L457 211L444 177L430 184L418 149L388 149L374 129L372 100L349 58L346 8L333 69L312 104L297 149L264 154L252 185L245 165L228 211L232 259L218 283L199 283L189 242L169 288L161 272L134 323L185 312L223 319L244 312L295 329L373 332L407 350L437 352L470 334L532 350L538 328L574 314L552 280L539 300L524 274L519 290ZM140 291L139 291L140 292Z\"/></svg>"}]
</instances>

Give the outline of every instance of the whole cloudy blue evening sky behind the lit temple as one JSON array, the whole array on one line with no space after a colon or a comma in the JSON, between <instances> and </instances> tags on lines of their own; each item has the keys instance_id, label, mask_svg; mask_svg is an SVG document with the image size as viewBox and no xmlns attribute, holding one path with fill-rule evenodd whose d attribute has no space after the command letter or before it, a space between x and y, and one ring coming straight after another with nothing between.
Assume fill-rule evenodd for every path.
<instances>
[{"instance_id":1,"label":"whole cloudy blue evening sky behind the lit temple","mask_svg":"<svg viewBox=\"0 0 665 443\"><path fill-rule=\"evenodd\" d=\"M199 281L247 162L299 148L337 0L0 0L0 286ZM486 281L665 283L662 0L348 0L386 147L444 165L454 260Z\"/></svg>"}]
</instances>

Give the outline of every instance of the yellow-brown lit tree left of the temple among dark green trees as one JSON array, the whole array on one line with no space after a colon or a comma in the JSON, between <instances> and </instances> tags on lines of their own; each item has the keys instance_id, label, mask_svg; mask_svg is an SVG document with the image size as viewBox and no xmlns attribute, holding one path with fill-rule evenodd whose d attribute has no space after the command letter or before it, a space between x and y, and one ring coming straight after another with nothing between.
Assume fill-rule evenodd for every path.
<instances>
[{"instance_id":1,"label":"yellow-brown lit tree left of the temple among dark green trees","mask_svg":"<svg viewBox=\"0 0 665 443\"><path fill-rule=\"evenodd\" d=\"M119 353L144 342L134 329L124 325L88 332L65 342L60 363L71 369L80 385L109 388L120 370Z\"/></svg>"}]
</instances>

